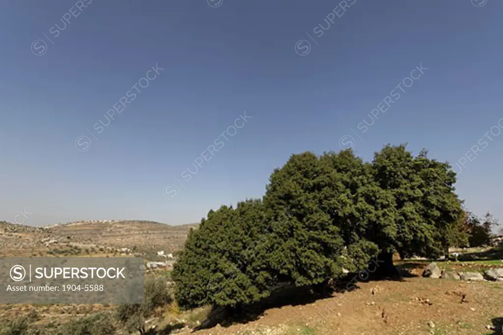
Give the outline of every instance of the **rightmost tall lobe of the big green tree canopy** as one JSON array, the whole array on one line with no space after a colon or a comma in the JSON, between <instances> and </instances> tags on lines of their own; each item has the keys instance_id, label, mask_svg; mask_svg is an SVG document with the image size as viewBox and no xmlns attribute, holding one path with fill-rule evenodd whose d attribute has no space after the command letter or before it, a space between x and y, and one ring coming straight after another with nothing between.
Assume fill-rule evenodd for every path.
<instances>
[{"instance_id":1,"label":"rightmost tall lobe of the big green tree canopy","mask_svg":"<svg viewBox=\"0 0 503 335\"><path fill-rule=\"evenodd\" d=\"M429 159L425 150L412 157L404 146L386 146L375 154L372 165L374 179L392 196L397 210L391 224L396 235L389 248L402 258L444 254L461 214L450 165Z\"/></svg>"}]
</instances>

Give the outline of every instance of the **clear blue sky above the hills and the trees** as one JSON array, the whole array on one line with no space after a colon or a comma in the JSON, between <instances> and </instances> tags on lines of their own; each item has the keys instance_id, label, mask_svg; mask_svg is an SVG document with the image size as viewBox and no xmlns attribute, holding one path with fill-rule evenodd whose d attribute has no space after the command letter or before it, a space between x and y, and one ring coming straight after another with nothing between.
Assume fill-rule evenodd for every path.
<instances>
[{"instance_id":1,"label":"clear blue sky above the hills and the trees","mask_svg":"<svg viewBox=\"0 0 503 335\"><path fill-rule=\"evenodd\" d=\"M461 160L467 206L503 219L501 1L1 6L2 219L185 224L292 153L404 142Z\"/></svg>"}]
</instances>

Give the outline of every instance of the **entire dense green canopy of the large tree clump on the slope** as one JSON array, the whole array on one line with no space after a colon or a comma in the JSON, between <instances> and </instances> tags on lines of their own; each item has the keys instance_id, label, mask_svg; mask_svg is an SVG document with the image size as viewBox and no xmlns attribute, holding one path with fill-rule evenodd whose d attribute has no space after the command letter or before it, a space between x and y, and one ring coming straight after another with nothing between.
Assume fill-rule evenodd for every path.
<instances>
[{"instance_id":1,"label":"entire dense green canopy of the large tree clump on the slope","mask_svg":"<svg viewBox=\"0 0 503 335\"><path fill-rule=\"evenodd\" d=\"M466 240L448 163L385 146L372 162L351 150L292 155L262 200L210 211L173 271L180 306L239 307L281 283L307 286L398 252L438 257Z\"/></svg>"}]
</instances>

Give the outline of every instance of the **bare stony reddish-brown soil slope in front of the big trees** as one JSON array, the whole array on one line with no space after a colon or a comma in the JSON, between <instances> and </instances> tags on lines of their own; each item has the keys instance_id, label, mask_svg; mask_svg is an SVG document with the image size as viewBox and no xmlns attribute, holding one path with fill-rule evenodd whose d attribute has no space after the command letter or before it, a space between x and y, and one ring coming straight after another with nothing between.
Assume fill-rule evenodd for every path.
<instances>
[{"instance_id":1,"label":"bare stony reddish-brown soil slope in front of the big trees","mask_svg":"<svg viewBox=\"0 0 503 335\"><path fill-rule=\"evenodd\" d=\"M501 334L501 283L415 277L357 285L352 292L270 308L258 320L195 334ZM486 327L493 323L499 330Z\"/></svg>"}]
</instances>

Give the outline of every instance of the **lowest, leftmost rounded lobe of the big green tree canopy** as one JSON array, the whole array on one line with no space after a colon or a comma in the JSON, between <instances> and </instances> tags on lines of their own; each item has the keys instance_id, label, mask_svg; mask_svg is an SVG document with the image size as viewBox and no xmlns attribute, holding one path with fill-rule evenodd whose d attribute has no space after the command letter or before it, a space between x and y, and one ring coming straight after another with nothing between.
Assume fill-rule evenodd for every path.
<instances>
[{"instance_id":1,"label":"lowest, leftmost rounded lobe of the big green tree canopy","mask_svg":"<svg viewBox=\"0 0 503 335\"><path fill-rule=\"evenodd\" d=\"M267 296L276 280L269 271L265 209L247 200L235 209L210 211L198 230L191 230L173 270L181 306L246 304Z\"/></svg>"}]
</instances>

